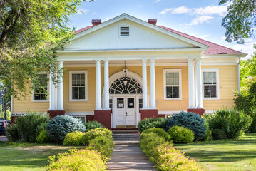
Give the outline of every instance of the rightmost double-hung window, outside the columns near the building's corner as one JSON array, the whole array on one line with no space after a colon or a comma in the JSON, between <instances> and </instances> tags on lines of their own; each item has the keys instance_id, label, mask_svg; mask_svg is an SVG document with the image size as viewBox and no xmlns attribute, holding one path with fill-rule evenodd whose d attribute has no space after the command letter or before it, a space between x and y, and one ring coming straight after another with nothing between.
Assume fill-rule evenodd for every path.
<instances>
[{"instance_id":1,"label":"rightmost double-hung window, outside the columns near the building's corner","mask_svg":"<svg viewBox=\"0 0 256 171\"><path fill-rule=\"evenodd\" d=\"M220 99L219 69L203 68L203 99Z\"/></svg>"}]
</instances>

